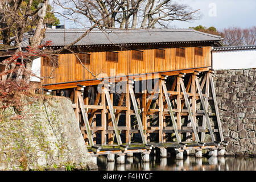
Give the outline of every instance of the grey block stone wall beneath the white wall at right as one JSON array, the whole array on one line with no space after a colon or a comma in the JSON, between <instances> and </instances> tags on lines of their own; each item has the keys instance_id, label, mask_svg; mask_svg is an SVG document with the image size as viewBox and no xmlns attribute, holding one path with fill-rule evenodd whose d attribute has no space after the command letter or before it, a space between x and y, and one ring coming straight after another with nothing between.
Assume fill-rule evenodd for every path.
<instances>
[{"instance_id":1,"label":"grey block stone wall beneath the white wall at right","mask_svg":"<svg viewBox=\"0 0 256 182\"><path fill-rule=\"evenodd\" d=\"M218 70L216 95L224 138L225 155L256 154L256 69Z\"/></svg>"}]
</instances>

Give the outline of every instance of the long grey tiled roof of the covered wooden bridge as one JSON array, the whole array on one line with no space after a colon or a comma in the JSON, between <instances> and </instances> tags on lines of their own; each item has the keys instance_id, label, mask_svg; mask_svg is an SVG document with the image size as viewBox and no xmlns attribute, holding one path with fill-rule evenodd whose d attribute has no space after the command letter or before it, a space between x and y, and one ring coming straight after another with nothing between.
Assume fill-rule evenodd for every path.
<instances>
[{"instance_id":1,"label":"long grey tiled roof of the covered wooden bridge","mask_svg":"<svg viewBox=\"0 0 256 182\"><path fill-rule=\"evenodd\" d=\"M48 29L43 41L52 46L65 46L84 34L85 29ZM139 43L218 42L221 36L205 34L192 29L106 30L91 31L75 46Z\"/></svg>"}]
</instances>

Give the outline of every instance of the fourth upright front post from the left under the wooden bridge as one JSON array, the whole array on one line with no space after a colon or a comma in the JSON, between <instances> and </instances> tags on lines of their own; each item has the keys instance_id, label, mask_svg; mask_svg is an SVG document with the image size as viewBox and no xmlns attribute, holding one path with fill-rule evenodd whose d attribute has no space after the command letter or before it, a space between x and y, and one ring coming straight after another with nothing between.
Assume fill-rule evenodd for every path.
<instances>
[{"instance_id":1,"label":"fourth upright front post from the left under the wooden bridge","mask_svg":"<svg viewBox=\"0 0 256 182\"><path fill-rule=\"evenodd\" d=\"M159 80L159 98L158 98L158 105L159 105L159 143L163 143L164 135L163 135L163 89L162 84L164 80Z\"/></svg>"}]
</instances>

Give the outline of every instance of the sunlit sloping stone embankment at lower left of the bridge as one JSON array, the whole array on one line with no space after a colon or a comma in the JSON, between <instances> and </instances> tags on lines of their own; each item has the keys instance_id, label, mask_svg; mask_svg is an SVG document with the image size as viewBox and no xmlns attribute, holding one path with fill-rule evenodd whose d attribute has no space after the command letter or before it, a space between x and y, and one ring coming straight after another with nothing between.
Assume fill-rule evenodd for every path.
<instances>
[{"instance_id":1,"label":"sunlit sloping stone embankment at lower left of the bridge","mask_svg":"<svg viewBox=\"0 0 256 182\"><path fill-rule=\"evenodd\" d=\"M97 167L70 100L37 95L22 102L23 119L13 119L13 107L0 110L0 171Z\"/></svg>"}]
</instances>

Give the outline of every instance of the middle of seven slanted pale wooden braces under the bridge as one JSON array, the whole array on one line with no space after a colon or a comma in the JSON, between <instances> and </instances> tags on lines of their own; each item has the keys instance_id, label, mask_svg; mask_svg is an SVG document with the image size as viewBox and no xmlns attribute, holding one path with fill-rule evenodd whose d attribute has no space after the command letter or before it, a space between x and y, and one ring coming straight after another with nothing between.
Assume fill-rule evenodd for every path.
<instances>
[{"instance_id":1,"label":"middle of seven slanted pale wooden braces under the bridge","mask_svg":"<svg viewBox=\"0 0 256 182\"><path fill-rule=\"evenodd\" d=\"M174 111L172 111L171 101L170 101L170 98L168 96L166 84L164 82L162 82L162 88L163 88L164 96L166 97L166 102L168 104L168 109L169 109L169 113L170 113L170 116L171 116L172 126L174 127L174 132L175 132L175 135L176 135L176 138L177 138L177 142L180 143L181 139L180 139L180 135L178 133L177 124L176 124L175 117L174 117Z\"/></svg>"}]
</instances>

